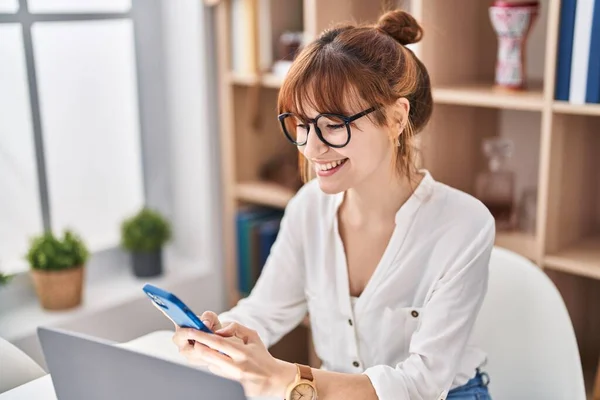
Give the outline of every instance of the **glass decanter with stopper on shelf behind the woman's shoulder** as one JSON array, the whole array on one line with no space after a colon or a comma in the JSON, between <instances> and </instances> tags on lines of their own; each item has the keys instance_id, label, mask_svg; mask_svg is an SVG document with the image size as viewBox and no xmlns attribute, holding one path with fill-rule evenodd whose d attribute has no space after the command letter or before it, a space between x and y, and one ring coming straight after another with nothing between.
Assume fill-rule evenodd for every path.
<instances>
[{"instance_id":1,"label":"glass decanter with stopper on shelf behind the woman's shoulder","mask_svg":"<svg viewBox=\"0 0 600 400\"><path fill-rule=\"evenodd\" d=\"M488 160L488 170L481 172L475 183L475 196L490 210L498 230L514 227L515 175L508 167L514 144L503 137L483 140L483 153Z\"/></svg>"}]
</instances>

